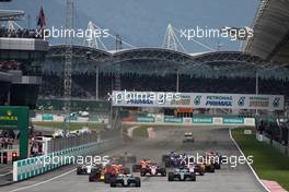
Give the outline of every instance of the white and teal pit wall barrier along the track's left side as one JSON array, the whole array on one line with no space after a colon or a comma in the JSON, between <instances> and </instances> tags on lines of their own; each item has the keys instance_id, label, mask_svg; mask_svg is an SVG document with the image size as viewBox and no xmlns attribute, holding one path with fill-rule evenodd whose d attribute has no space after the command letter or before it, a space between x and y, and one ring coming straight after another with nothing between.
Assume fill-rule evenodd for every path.
<instances>
[{"instance_id":1,"label":"white and teal pit wall barrier along the track's left side","mask_svg":"<svg viewBox=\"0 0 289 192\"><path fill-rule=\"evenodd\" d=\"M105 140L101 142L90 143L82 146L67 148L60 152L50 153L43 156L31 157L13 163L13 181L25 180L61 166L72 164L77 156L93 155L103 153L106 149L117 146L119 139ZM84 157L85 158L85 157Z\"/></svg>"}]
</instances>

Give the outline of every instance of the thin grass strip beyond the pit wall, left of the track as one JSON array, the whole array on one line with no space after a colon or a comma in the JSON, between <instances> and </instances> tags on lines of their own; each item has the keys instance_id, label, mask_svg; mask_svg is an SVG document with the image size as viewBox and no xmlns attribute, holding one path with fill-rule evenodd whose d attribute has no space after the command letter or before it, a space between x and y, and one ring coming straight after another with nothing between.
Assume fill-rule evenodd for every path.
<instances>
[{"instance_id":1,"label":"thin grass strip beyond the pit wall, left of the track","mask_svg":"<svg viewBox=\"0 0 289 192\"><path fill-rule=\"evenodd\" d=\"M55 129L65 129L65 122L33 122L33 125L38 127L46 127L46 128L55 128ZM95 123L95 122L70 122L70 130L79 130L82 129L82 127L88 127L90 129L101 129L104 128L104 124L102 123Z\"/></svg>"}]
</instances>

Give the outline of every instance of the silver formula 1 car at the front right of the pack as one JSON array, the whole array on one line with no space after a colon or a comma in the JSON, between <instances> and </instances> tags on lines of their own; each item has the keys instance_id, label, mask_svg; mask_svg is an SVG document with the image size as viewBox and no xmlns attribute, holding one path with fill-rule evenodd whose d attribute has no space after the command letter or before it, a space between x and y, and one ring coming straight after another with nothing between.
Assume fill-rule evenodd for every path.
<instances>
[{"instance_id":1,"label":"silver formula 1 car at the front right of the pack","mask_svg":"<svg viewBox=\"0 0 289 192\"><path fill-rule=\"evenodd\" d=\"M188 168L177 168L173 172L169 172L169 181L196 181L196 173L190 172Z\"/></svg>"}]
</instances>

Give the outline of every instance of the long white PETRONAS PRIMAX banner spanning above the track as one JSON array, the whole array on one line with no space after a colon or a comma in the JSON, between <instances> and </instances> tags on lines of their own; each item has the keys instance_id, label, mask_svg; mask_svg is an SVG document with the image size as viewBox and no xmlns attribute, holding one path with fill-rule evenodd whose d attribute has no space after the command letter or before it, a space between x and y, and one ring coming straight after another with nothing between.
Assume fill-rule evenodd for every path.
<instances>
[{"instance_id":1,"label":"long white PETRONAS PRIMAX banner spanning above the track","mask_svg":"<svg viewBox=\"0 0 289 192\"><path fill-rule=\"evenodd\" d=\"M116 107L284 109L284 95L114 91L108 96Z\"/></svg>"}]
</instances>

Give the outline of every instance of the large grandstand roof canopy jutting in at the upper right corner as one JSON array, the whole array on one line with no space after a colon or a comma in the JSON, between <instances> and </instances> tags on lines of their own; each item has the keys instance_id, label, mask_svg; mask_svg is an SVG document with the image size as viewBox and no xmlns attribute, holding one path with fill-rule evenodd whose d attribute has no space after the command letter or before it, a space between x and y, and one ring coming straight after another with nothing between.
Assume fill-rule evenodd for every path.
<instances>
[{"instance_id":1,"label":"large grandstand roof canopy jutting in at the upper right corner","mask_svg":"<svg viewBox=\"0 0 289 192\"><path fill-rule=\"evenodd\" d=\"M289 1L262 0L245 52L289 64Z\"/></svg>"}]
</instances>

